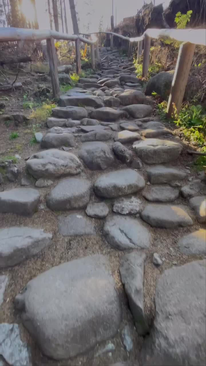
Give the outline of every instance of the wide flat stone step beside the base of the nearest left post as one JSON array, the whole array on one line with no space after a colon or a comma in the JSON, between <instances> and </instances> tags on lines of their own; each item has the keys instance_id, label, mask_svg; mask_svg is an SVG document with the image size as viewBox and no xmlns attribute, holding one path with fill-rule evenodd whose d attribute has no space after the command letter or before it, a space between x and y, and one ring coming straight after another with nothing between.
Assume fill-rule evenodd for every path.
<instances>
[{"instance_id":1,"label":"wide flat stone step beside the base of the nearest left post","mask_svg":"<svg viewBox=\"0 0 206 366\"><path fill-rule=\"evenodd\" d=\"M60 107L67 107L68 105L78 107L80 103L83 105L87 105L88 107L95 107L95 108L104 107L102 99L93 95L87 95L85 93L74 93L73 96L63 95L60 96L59 98Z\"/></svg>"}]
</instances>

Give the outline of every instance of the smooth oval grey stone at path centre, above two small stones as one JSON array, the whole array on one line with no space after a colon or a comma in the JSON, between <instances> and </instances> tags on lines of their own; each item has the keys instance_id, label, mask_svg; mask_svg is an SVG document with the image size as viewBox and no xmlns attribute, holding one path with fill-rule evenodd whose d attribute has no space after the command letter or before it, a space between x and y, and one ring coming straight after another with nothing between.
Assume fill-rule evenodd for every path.
<instances>
[{"instance_id":1,"label":"smooth oval grey stone at path centre, above two small stones","mask_svg":"<svg viewBox=\"0 0 206 366\"><path fill-rule=\"evenodd\" d=\"M115 198L140 191L144 178L132 169L121 169L101 175L95 182L95 193L100 197Z\"/></svg>"}]
</instances>

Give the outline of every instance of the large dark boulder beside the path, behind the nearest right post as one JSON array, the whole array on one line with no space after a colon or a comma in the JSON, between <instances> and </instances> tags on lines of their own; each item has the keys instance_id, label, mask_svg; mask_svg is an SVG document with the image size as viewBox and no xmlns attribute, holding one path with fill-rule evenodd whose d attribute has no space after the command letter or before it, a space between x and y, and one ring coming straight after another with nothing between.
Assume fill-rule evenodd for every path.
<instances>
[{"instance_id":1,"label":"large dark boulder beside the path, behind the nearest right post","mask_svg":"<svg viewBox=\"0 0 206 366\"><path fill-rule=\"evenodd\" d=\"M166 99L171 90L174 70L162 71L150 78L147 82L145 94L152 95L153 91L162 98Z\"/></svg>"}]
</instances>

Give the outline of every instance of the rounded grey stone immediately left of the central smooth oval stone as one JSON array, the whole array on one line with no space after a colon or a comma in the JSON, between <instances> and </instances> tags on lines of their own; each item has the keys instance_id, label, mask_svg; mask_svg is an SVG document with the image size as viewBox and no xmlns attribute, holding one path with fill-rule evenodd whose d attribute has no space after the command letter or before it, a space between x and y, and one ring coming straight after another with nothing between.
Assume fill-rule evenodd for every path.
<instances>
[{"instance_id":1,"label":"rounded grey stone immediately left of the central smooth oval stone","mask_svg":"<svg viewBox=\"0 0 206 366\"><path fill-rule=\"evenodd\" d=\"M84 208L89 203L91 182L84 178L60 180L46 198L51 210L72 210Z\"/></svg>"}]
</instances>

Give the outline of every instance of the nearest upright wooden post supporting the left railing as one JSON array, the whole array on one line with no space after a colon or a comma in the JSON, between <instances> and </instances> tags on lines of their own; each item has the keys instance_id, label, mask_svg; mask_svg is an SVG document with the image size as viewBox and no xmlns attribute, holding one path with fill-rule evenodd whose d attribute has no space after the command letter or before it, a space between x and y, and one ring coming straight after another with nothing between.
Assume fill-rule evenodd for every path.
<instances>
[{"instance_id":1,"label":"nearest upright wooden post supporting the left railing","mask_svg":"<svg viewBox=\"0 0 206 366\"><path fill-rule=\"evenodd\" d=\"M47 56L49 60L49 69L52 83L52 95L53 98L56 98L59 96L59 78L57 56L53 37L47 39Z\"/></svg>"}]
</instances>

